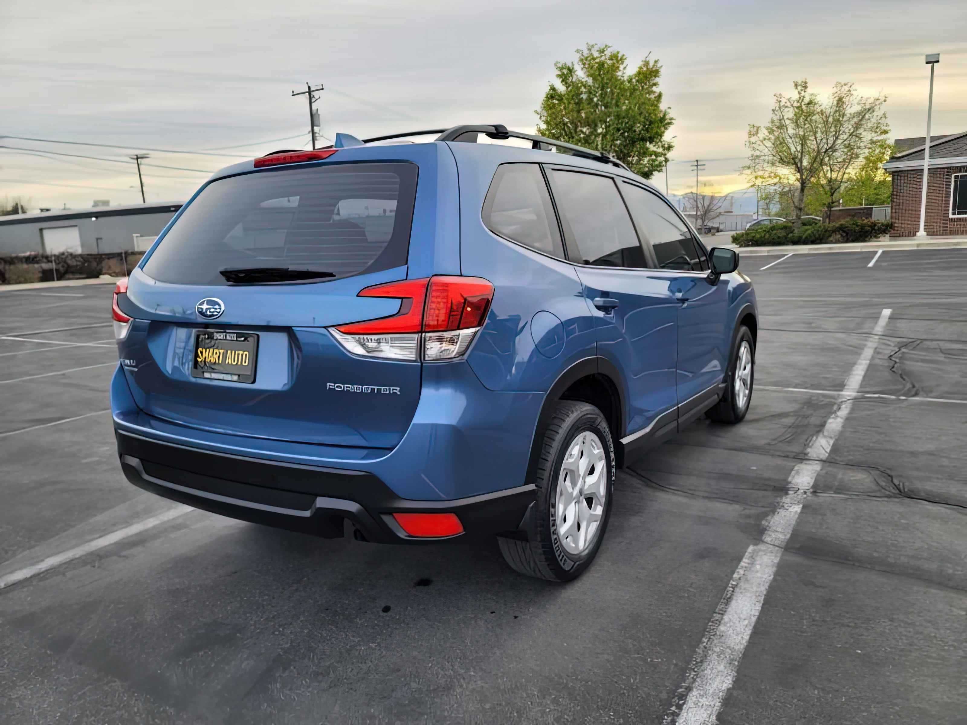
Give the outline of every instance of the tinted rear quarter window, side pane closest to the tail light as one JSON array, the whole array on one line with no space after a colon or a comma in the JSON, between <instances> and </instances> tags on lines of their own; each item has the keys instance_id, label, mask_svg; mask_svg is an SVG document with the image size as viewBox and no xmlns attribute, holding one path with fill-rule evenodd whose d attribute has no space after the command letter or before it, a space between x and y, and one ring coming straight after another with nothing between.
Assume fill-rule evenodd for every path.
<instances>
[{"instance_id":1,"label":"tinted rear quarter window, side pane closest to the tail light","mask_svg":"<svg viewBox=\"0 0 967 725\"><path fill-rule=\"evenodd\" d=\"M564 258L554 207L536 163L497 167L484 200L484 224L501 237Z\"/></svg>"}]
</instances>

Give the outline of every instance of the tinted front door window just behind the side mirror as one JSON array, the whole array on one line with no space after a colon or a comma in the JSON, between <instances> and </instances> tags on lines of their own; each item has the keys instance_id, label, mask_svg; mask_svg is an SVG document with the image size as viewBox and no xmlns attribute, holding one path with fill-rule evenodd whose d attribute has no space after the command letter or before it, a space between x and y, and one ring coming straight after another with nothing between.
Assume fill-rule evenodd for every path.
<instances>
[{"instance_id":1,"label":"tinted front door window just behind the side mirror","mask_svg":"<svg viewBox=\"0 0 967 725\"><path fill-rule=\"evenodd\" d=\"M659 268L695 272L708 269L705 255L695 246L689 227L668 204L641 187L623 184L622 189L638 232L655 250Z\"/></svg>"}]
</instances>

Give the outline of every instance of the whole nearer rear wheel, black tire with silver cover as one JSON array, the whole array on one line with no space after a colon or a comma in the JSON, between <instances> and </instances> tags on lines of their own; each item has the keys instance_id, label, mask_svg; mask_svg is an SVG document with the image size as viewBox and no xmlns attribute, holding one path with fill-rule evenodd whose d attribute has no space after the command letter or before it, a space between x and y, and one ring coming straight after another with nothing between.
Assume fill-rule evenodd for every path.
<instances>
[{"instance_id":1,"label":"whole nearer rear wheel, black tire with silver cover","mask_svg":"<svg viewBox=\"0 0 967 725\"><path fill-rule=\"evenodd\" d=\"M614 493L614 443L598 408L561 400L539 445L542 448L534 478L537 500L530 531L526 538L498 536L497 540L504 559L515 571L568 582L584 573L601 548ZM567 470L562 471L566 458ZM572 480L581 486L573 497Z\"/></svg>"}]
</instances>

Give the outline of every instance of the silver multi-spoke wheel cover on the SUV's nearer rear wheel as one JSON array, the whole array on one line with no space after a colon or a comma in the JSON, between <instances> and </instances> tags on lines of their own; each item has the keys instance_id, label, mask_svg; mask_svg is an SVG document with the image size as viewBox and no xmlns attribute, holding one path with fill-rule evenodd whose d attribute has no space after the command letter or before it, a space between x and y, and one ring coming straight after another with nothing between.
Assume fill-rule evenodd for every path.
<instances>
[{"instance_id":1,"label":"silver multi-spoke wheel cover on the SUV's nearer rear wheel","mask_svg":"<svg viewBox=\"0 0 967 725\"><path fill-rule=\"evenodd\" d=\"M564 550L580 555L594 545L604 514L607 465L601 439L586 430L571 441L557 479L557 536Z\"/></svg>"}]
</instances>

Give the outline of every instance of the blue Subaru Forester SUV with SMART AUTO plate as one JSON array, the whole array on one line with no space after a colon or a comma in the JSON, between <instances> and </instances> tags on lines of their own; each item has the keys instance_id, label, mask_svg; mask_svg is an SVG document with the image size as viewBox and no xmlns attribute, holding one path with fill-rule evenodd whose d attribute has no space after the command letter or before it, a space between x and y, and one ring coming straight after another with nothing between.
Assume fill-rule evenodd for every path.
<instances>
[{"instance_id":1,"label":"blue Subaru Forester SUV with SMART AUTO plate","mask_svg":"<svg viewBox=\"0 0 967 725\"><path fill-rule=\"evenodd\" d=\"M115 290L121 466L317 536L496 535L517 571L570 580L617 468L746 416L752 285L605 154L396 135L425 133L340 134L192 196Z\"/></svg>"}]
</instances>

